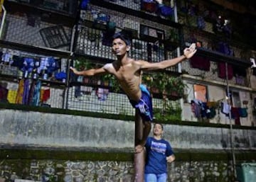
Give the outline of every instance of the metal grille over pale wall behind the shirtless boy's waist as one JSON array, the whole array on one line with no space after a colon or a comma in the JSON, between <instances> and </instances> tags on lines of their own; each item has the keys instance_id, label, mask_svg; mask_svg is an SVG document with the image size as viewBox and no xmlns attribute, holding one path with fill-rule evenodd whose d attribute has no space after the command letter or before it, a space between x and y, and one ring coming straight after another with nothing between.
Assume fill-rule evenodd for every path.
<instances>
[{"instance_id":1,"label":"metal grille over pale wall behind the shirtless boy's waist","mask_svg":"<svg viewBox=\"0 0 256 182\"><path fill-rule=\"evenodd\" d=\"M165 101L153 98L154 113L164 114L165 110L180 108L179 101ZM135 110L125 94L110 92L108 89L92 86L73 86L68 92L68 109L99 113L134 115Z\"/></svg>"}]
</instances>

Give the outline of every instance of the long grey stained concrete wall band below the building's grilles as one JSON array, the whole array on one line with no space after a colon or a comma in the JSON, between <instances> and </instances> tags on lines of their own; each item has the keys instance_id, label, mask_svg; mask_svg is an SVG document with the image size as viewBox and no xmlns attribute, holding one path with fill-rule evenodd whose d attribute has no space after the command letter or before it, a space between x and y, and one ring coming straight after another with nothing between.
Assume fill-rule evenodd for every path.
<instances>
[{"instance_id":1,"label":"long grey stained concrete wall band below the building's grilles","mask_svg":"<svg viewBox=\"0 0 256 182\"><path fill-rule=\"evenodd\" d=\"M2 147L82 147L132 152L134 146L133 121L7 109L0 110L0 115ZM175 149L230 148L228 128L164 125L164 138ZM237 149L256 150L256 130L235 129L233 141Z\"/></svg>"}]
</instances>

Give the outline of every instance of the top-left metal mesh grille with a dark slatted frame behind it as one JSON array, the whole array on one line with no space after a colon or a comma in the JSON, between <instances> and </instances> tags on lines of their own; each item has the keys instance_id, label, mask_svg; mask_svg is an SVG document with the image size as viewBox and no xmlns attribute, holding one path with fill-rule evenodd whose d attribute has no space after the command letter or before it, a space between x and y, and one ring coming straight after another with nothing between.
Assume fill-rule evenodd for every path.
<instances>
[{"instance_id":1,"label":"top-left metal mesh grille with a dark slatted frame behind it","mask_svg":"<svg viewBox=\"0 0 256 182\"><path fill-rule=\"evenodd\" d=\"M44 32L53 26L53 24L41 21L39 16L27 16L26 14L17 16L7 13L2 40L23 45L58 47L61 50L69 50L70 28L61 26L58 30L61 30L62 33L58 35L61 35L62 39L59 38L57 42L54 42L54 46L52 43L48 43ZM63 40L65 40L64 43Z\"/></svg>"}]
</instances>

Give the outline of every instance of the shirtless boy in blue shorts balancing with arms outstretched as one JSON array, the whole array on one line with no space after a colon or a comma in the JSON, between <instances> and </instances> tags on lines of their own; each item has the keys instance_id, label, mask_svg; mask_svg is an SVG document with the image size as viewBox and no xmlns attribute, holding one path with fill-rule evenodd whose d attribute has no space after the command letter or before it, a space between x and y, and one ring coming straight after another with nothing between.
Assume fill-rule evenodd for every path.
<instances>
[{"instance_id":1,"label":"shirtless boy in blue shorts balancing with arms outstretched","mask_svg":"<svg viewBox=\"0 0 256 182\"><path fill-rule=\"evenodd\" d=\"M143 137L139 144L135 147L135 152L142 152L146 138L151 130L151 120L153 120L152 101L149 91L141 84L142 71L154 69L166 69L174 66L185 59L191 58L196 53L196 45L183 50L183 55L174 59L167 59L161 62L146 62L144 60L135 60L128 57L131 48L131 42L122 33L115 33L112 41L112 53L117 56L117 60L112 63L105 64L98 69L87 69L78 71L73 67L70 69L74 74L84 76L94 76L97 74L113 74L122 90L127 94L130 103L139 111L144 123Z\"/></svg>"}]
</instances>

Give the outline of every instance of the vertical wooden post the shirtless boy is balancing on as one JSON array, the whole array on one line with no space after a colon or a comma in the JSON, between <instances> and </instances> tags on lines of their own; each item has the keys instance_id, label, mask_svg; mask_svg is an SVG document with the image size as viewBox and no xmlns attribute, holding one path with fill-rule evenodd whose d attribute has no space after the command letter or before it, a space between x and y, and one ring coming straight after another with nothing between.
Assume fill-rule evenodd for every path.
<instances>
[{"instance_id":1,"label":"vertical wooden post the shirtless boy is balancing on","mask_svg":"<svg viewBox=\"0 0 256 182\"><path fill-rule=\"evenodd\" d=\"M135 113L135 141L134 144L137 146L142 140L143 136L143 122L140 117L138 110ZM145 166L145 151L134 154L134 182L144 182L144 166Z\"/></svg>"}]
</instances>

